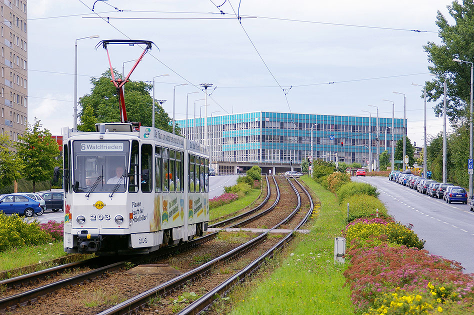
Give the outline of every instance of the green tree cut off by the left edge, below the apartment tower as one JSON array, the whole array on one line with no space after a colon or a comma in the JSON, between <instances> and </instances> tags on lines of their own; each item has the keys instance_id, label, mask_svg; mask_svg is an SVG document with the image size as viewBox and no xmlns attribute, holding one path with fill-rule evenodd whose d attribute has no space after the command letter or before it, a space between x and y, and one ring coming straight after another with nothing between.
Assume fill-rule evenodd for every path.
<instances>
[{"instance_id":1,"label":"green tree cut off by the left edge, below the apartment tower","mask_svg":"<svg viewBox=\"0 0 474 315\"><path fill-rule=\"evenodd\" d=\"M23 161L8 147L13 147L8 135L0 134L0 187L10 185L13 180L21 178L24 167Z\"/></svg>"}]
</instances>

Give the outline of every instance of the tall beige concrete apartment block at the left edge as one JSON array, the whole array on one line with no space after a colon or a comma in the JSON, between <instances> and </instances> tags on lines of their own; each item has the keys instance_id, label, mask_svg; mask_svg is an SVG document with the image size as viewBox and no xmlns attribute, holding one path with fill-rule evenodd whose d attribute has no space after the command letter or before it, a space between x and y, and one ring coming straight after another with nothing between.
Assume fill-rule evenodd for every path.
<instances>
[{"instance_id":1,"label":"tall beige concrete apartment block at the left edge","mask_svg":"<svg viewBox=\"0 0 474 315\"><path fill-rule=\"evenodd\" d=\"M27 5L0 0L0 130L18 141L27 127Z\"/></svg>"}]
</instances>

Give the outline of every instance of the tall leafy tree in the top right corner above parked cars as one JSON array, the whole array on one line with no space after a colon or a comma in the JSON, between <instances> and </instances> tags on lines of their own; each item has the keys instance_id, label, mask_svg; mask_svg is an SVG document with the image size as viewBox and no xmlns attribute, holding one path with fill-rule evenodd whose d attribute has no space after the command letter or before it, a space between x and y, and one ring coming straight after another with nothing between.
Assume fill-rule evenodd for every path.
<instances>
[{"instance_id":1,"label":"tall leafy tree in the top right corner above parked cars","mask_svg":"<svg viewBox=\"0 0 474 315\"><path fill-rule=\"evenodd\" d=\"M456 0L447 8L454 24L450 25L441 12L437 11L436 25L439 27L441 43L438 45L428 41L423 46L428 54L428 61L432 63L428 69L436 75L433 81L426 82L426 93L430 101L441 98L434 107L436 115L441 115L443 82L446 78L446 114L451 122L466 121L469 117L470 64L452 59L474 62L474 3L472 0L463 0L462 4L459 4Z\"/></svg>"}]
</instances>

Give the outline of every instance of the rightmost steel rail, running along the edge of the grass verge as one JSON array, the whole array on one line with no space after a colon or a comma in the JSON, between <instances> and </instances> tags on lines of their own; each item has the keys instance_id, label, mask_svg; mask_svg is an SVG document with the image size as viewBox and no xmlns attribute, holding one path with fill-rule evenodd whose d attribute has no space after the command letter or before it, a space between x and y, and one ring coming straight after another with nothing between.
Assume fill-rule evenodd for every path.
<instances>
[{"instance_id":1,"label":"rightmost steel rail, running along the edge of the grass verge","mask_svg":"<svg viewBox=\"0 0 474 315\"><path fill-rule=\"evenodd\" d=\"M273 245L270 249L268 249L265 253L263 253L260 257L249 263L246 267L241 269L239 272L235 273L234 275L230 276L227 280L223 281L219 285L217 285L215 288L212 290L208 291L201 297L199 297L197 300L183 308L178 315L185 315L185 314L197 314L201 310L207 309L213 301L218 298L218 296L224 296L230 288L232 288L236 283L243 282L245 280L245 277L249 274L251 274L254 270L256 270L268 257L272 257L275 250L278 248L282 247L286 242L288 242L294 234L294 231L301 227L308 219L309 215L311 215L312 210L313 210L313 202L311 199L311 196L309 195L309 192L297 181L295 180L299 186L303 189L303 191L306 193L308 196L310 206L309 210L304 216L304 218L298 223L298 225L290 232L288 235L286 235L283 239L281 239L278 243Z\"/></svg>"}]
</instances>

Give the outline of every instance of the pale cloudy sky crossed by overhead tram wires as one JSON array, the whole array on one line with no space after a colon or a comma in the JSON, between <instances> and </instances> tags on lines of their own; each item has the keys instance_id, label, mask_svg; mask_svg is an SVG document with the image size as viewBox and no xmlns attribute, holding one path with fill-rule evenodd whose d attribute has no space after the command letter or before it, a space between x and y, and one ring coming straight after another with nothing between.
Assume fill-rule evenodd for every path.
<instances>
[{"instance_id":1,"label":"pale cloudy sky crossed by overhead tram wires","mask_svg":"<svg viewBox=\"0 0 474 315\"><path fill-rule=\"evenodd\" d=\"M52 134L73 124L74 42L77 95L108 68L104 39L145 39L155 46L131 74L152 81L175 119L194 114L212 83L208 115L255 110L403 117L423 143L422 86L432 79L423 45L439 43L445 0L34 0L28 1L28 119ZM93 6L93 11L92 11ZM217 6L219 6L217 8ZM223 13L221 14L220 10ZM240 22L236 18L241 17ZM448 19L449 20L449 19ZM420 30L420 31L412 31ZM109 45L112 66L130 70L142 49ZM125 62L125 63L123 63ZM187 83L187 85L175 86ZM112 84L112 83L110 83ZM188 94L194 91L198 93ZM126 102L126 94L125 94ZM196 102L199 115L200 105ZM442 130L427 103L427 139ZM202 107L202 112L204 107ZM117 117L119 120L119 117ZM449 131L449 128L448 128Z\"/></svg>"}]
</instances>

